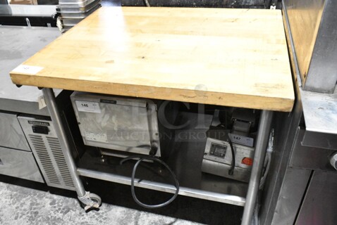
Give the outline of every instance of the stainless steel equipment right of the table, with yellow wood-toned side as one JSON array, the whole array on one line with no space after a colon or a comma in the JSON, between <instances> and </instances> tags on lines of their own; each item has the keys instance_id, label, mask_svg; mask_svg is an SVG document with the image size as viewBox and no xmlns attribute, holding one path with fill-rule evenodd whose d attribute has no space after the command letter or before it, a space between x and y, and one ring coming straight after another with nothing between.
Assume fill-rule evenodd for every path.
<instances>
[{"instance_id":1,"label":"stainless steel equipment right of the table, with yellow wood-toned side","mask_svg":"<svg viewBox=\"0 0 337 225\"><path fill-rule=\"evenodd\" d=\"M336 224L334 8L336 1L283 1L297 101L293 113L276 120L274 172L266 181L260 224Z\"/></svg>"}]
</instances>

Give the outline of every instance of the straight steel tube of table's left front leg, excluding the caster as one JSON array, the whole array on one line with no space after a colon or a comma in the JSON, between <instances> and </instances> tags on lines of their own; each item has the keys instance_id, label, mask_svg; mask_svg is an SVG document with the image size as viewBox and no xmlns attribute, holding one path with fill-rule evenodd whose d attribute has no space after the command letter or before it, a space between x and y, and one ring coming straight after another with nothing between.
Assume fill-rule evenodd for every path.
<instances>
[{"instance_id":1,"label":"straight steel tube of table's left front leg, excluding the caster","mask_svg":"<svg viewBox=\"0 0 337 225\"><path fill-rule=\"evenodd\" d=\"M51 120L54 123L55 131L59 138L63 155L66 159L66 163L71 174L71 179L73 179L76 193L78 194L78 197L85 196L85 188L82 184L82 181L80 180L80 176L77 173L77 167L75 165L75 161L73 160L73 156L71 155L71 147L69 144L68 136L66 136L64 124L61 120L59 108L56 105L54 91L53 89L44 88L42 89L42 93L44 96L44 101L47 104Z\"/></svg>"}]
</instances>

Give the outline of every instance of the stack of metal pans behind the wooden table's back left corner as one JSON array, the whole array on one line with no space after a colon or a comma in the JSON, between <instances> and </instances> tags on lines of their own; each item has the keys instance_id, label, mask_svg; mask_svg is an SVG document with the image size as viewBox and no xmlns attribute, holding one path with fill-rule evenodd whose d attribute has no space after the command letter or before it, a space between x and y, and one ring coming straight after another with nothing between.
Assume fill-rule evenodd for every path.
<instances>
[{"instance_id":1,"label":"stack of metal pans behind the wooden table's back left corner","mask_svg":"<svg viewBox=\"0 0 337 225\"><path fill-rule=\"evenodd\" d=\"M66 32L101 7L101 0L59 0L62 32Z\"/></svg>"}]
</instances>

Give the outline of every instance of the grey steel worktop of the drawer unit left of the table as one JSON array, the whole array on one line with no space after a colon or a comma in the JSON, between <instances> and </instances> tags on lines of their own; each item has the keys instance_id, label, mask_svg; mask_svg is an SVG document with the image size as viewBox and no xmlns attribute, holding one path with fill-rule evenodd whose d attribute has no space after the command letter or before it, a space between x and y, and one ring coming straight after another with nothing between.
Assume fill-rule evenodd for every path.
<instances>
[{"instance_id":1,"label":"grey steel worktop of the drawer unit left of the table","mask_svg":"<svg viewBox=\"0 0 337 225\"><path fill-rule=\"evenodd\" d=\"M17 86L9 72L37 51L59 37L57 28L0 26L0 110L48 116L47 108L39 109L42 91L33 86ZM56 96L61 90L55 90Z\"/></svg>"}]
</instances>

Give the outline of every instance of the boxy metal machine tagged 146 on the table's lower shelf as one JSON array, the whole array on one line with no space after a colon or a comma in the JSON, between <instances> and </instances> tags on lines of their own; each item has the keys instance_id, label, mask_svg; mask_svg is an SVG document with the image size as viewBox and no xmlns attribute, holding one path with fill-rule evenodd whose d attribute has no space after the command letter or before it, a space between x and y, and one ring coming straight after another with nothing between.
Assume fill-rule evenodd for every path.
<instances>
[{"instance_id":1,"label":"boxy metal machine tagged 146 on the table's lower shelf","mask_svg":"<svg viewBox=\"0 0 337 225\"><path fill-rule=\"evenodd\" d=\"M161 156L157 105L152 101L80 92L71 101L85 145Z\"/></svg>"}]
</instances>

